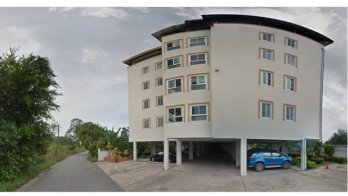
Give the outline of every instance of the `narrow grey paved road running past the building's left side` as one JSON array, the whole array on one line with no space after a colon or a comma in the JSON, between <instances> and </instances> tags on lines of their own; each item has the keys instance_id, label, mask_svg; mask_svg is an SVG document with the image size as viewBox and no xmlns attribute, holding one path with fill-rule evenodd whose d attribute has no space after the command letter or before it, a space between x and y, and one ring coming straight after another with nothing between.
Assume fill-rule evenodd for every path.
<instances>
[{"instance_id":1,"label":"narrow grey paved road running past the building's left side","mask_svg":"<svg viewBox=\"0 0 348 196\"><path fill-rule=\"evenodd\" d=\"M47 171L25 191L122 191L97 165L87 160L86 153L66 158Z\"/></svg>"}]
</instances>

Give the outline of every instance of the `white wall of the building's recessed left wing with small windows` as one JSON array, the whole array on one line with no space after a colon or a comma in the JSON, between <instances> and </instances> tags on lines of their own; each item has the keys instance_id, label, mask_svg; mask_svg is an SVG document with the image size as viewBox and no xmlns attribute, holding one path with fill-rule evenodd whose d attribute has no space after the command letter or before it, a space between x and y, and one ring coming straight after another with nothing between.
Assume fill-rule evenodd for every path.
<instances>
[{"instance_id":1,"label":"white wall of the building's recessed left wing with small windows","mask_svg":"<svg viewBox=\"0 0 348 196\"><path fill-rule=\"evenodd\" d=\"M164 107L156 107L156 97L163 95L163 85L155 86L155 79L163 75L155 70L155 64L161 62L161 55L146 59L128 67L129 129L130 142L163 141L163 127L156 127L156 117L164 115ZM142 74L142 68L149 66L150 73ZM150 89L142 90L142 83L150 81ZM143 109L143 100L150 99L150 108ZM150 118L150 128L143 129L143 119Z\"/></svg>"}]
</instances>

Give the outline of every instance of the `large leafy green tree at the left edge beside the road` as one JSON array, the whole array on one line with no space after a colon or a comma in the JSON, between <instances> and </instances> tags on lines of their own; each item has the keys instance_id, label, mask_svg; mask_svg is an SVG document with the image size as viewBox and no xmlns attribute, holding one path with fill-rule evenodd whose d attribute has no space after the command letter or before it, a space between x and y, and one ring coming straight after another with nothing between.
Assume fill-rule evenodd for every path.
<instances>
[{"instance_id":1,"label":"large leafy green tree at the left edge beside the road","mask_svg":"<svg viewBox=\"0 0 348 196\"><path fill-rule=\"evenodd\" d=\"M0 182L21 174L52 141L47 123L58 110L58 83L44 57L0 57Z\"/></svg>"}]
</instances>

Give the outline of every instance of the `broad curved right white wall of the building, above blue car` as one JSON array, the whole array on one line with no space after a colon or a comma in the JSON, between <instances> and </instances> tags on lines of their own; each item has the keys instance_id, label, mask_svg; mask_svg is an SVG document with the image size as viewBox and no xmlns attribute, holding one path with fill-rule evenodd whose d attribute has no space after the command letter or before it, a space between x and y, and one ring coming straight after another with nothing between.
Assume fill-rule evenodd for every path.
<instances>
[{"instance_id":1,"label":"broad curved right white wall of the building, above blue car","mask_svg":"<svg viewBox=\"0 0 348 196\"><path fill-rule=\"evenodd\" d=\"M275 42L259 40L260 32L275 34ZM298 40L298 49L285 46L285 37ZM275 28L215 24L211 28L212 136L319 139L321 47ZM275 50L275 61L260 59L259 48ZM284 53L297 56L297 68L284 63ZM274 72L274 87L259 85L259 69ZM283 89L283 74L297 78L297 92ZM258 118L259 99L274 102L274 119ZM283 120L284 103L296 105L296 122Z\"/></svg>"}]
</instances>

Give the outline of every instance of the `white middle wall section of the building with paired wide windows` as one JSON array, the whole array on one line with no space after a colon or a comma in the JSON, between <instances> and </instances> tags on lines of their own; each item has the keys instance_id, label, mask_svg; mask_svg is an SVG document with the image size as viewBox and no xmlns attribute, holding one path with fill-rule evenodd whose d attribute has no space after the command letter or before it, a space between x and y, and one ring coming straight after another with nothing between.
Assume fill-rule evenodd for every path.
<instances>
[{"instance_id":1,"label":"white middle wall section of the building with paired wide windows","mask_svg":"<svg viewBox=\"0 0 348 196\"><path fill-rule=\"evenodd\" d=\"M211 138L211 119L208 121L190 121L189 104L192 103L209 103L211 107L211 73L210 73L210 31L193 31L185 33L177 33L162 37L162 60L164 66L163 82L175 77L183 77L183 92L167 94L164 96L165 107L184 105L184 121L167 123L167 112L165 112L165 137L166 138ZM206 46L189 47L188 39L190 37L207 37ZM182 48L166 51L166 43L174 40L181 40ZM189 65L188 55L192 53L207 53L207 64ZM182 67L169 69L166 67L166 59L181 56ZM208 90L197 90L189 92L189 75L208 74ZM211 115L210 115L211 117Z\"/></svg>"}]
</instances>

